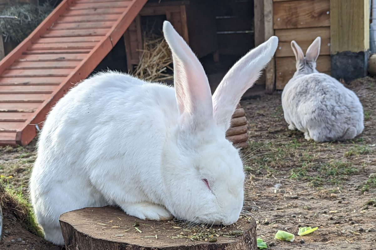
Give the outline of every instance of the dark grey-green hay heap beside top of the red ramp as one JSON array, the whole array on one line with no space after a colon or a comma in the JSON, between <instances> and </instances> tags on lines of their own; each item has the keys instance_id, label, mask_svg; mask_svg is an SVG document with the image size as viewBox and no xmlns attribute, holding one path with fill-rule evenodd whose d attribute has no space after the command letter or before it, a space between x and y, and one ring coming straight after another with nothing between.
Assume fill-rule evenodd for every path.
<instances>
[{"instance_id":1,"label":"dark grey-green hay heap beside top of the red ramp","mask_svg":"<svg viewBox=\"0 0 376 250\"><path fill-rule=\"evenodd\" d=\"M16 18L0 18L0 33L4 41L11 39L21 42L52 12L53 7L49 3L12 4L6 6L0 16L17 16Z\"/></svg>"}]
</instances>

